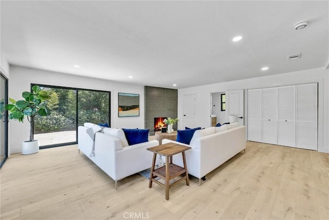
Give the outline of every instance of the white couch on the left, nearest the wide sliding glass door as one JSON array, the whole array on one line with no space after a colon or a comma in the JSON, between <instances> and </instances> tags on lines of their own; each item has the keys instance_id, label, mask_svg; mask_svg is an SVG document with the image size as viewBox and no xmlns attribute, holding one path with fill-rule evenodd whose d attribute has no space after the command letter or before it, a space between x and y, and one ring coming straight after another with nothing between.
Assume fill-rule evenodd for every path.
<instances>
[{"instance_id":1,"label":"white couch on the left, nearest the wide sliding glass door","mask_svg":"<svg viewBox=\"0 0 329 220\"><path fill-rule=\"evenodd\" d=\"M146 170L152 166L153 154L147 148L159 145L157 140L127 145L122 129L104 128L96 132L95 155L90 157L93 140L86 130L94 126L92 123L84 123L78 127L78 148L100 169L117 182L124 177Z\"/></svg>"}]
</instances>

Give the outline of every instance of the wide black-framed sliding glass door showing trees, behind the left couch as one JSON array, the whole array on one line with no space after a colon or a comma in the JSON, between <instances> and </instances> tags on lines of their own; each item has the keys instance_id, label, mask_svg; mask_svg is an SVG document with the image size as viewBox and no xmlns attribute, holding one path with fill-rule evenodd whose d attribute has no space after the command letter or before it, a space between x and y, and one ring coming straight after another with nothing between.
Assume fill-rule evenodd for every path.
<instances>
[{"instance_id":1,"label":"wide black-framed sliding glass door showing trees, behind the left couch","mask_svg":"<svg viewBox=\"0 0 329 220\"><path fill-rule=\"evenodd\" d=\"M111 124L109 91L40 86L50 90L51 111L50 116L34 121L33 137L39 140L41 149L77 143L78 126L84 122Z\"/></svg>"}]
</instances>

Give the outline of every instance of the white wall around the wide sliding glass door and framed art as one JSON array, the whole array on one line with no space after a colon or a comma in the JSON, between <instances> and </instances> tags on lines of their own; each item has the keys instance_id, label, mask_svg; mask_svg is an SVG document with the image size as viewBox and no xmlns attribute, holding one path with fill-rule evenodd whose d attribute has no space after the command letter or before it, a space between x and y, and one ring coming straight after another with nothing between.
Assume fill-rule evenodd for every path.
<instances>
[{"instance_id":1,"label":"white wall around the wide sliding glass door and framed art","mask_svg":"<svg viewBox=\"0 0 329 220\"><path fill-rule=\"evenodd\" d=\"M9 97L22 99L22 92L29 91L31 83L111 91L111 126L144 127L144 86L108 80L79 77L40 69L10 66ZM139 94L139 117L118 117L118 93ZM22 141L29 139L29 123L9 122L9 153L22 152Z\"/></svg>"}]
</instances>

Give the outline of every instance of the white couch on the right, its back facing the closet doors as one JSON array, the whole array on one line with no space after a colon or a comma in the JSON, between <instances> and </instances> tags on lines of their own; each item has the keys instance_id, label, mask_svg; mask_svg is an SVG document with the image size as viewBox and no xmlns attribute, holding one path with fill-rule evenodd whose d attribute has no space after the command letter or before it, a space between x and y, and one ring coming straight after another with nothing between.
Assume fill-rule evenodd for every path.
<instances>
[{"instance_id":1,"label":"white couch on the right, its back facing the closet doors","mask_svg":"<svg viewBox=\"0 0 329 220\"><path fill-rule=\"evenodd\" d=\"M201 179L224 162L246 148L246 127L237 123L208 127L195 131L190 144L163 139L163 143L174 142L192 149L185 152L188 173ZM183 166L181 155L173 156L173 163Z\"/></svg>"}]
</instances>

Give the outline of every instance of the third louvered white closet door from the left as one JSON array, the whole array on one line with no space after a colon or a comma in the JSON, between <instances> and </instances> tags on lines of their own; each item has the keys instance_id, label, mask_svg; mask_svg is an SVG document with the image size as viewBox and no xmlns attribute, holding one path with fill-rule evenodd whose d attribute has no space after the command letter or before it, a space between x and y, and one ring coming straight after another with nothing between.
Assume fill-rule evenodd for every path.
<instances>
[{"instance_id":1,"label":"third louvered white closet door from the left","mask_svg":"<svg viewBox=\"0 0 329 220\"><path fill-rule=\"evenodd\" d=\"M296 85L278 88L278 144L296 148Z\"/></svg>"}]
</instances>

